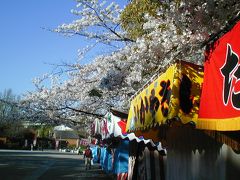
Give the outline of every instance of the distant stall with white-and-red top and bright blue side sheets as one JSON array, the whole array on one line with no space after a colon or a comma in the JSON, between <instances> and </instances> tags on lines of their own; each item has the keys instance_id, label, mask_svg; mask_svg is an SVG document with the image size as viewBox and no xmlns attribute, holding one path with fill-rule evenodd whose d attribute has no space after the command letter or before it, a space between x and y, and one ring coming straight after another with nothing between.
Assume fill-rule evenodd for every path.
<instances>
[{"instance_id":1,"label":"distant stall with white-and-red top and bright blue side sheets","mask_svg":"<svg viewBox=\"0 0 240 180\"><path fill-rule=\"evenodd\" d=\"M126 124L126 123L125 123ZM101 142L100 164L105 172L126 179L128 171L128 140L121 139L121 119L107 113L93 123L93 136Z\"/></svg>"}]
</instances>

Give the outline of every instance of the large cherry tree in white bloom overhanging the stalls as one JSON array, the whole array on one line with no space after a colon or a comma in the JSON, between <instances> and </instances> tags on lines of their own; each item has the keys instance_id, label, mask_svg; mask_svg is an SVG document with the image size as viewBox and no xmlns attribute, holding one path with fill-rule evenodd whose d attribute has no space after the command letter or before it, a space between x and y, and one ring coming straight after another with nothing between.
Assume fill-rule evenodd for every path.
<instances>
[{"instance_id":1,"label":"large cherry tree in white bloom overhanging the stalls","mask_svg":"<svg viewBox=\"0 0 240 180\"><path fill-rule=\"evenodd\" d=\"M65 81L58 74L36 78L36 91L26 94L23 104L51 120L84 127L111 107L127 111L130 97L169 64L185 60L202 65L203 43L217 37L211 35L237 16L239 5L230 0L161 1L155 15L144 13L142 28L147 33L133 41L120 27L122 10L116 3L77 0L78 10L72 13L79 19L55 32L80 35L118 49L89 64L72 64L74 70L68 71ZM44 85L45 79L51 79L50 87Z\"/></svg>"}]
</instances>

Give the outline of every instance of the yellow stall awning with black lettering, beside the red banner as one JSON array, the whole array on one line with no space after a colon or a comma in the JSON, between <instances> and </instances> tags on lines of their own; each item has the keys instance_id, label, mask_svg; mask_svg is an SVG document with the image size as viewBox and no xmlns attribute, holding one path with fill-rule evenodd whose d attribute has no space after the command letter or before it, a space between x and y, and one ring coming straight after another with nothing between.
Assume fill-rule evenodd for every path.
<instances>
[{"instance_id":1,"label":"yellow stall awning with black lettering, beside the red banner","mask_svg":"<svg viewBox=\"0 0 240 180\"><path fill-rule=\"evenodd\" d=\"M197 122L203 69L186 62L170 66L131 101L127 131L145 130L175 117Z\"/></svg>"}]
</instances>

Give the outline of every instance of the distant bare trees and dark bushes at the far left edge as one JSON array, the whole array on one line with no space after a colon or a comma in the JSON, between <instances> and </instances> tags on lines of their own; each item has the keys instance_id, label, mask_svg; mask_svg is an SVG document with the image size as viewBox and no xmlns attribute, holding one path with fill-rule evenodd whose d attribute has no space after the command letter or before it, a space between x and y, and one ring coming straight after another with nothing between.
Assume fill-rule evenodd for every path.
<instances>
[{"instance_id":1,"label":"distant bare trees and dark bushes at the far left edge","mask_svg":"<svg viewBox=\"0 0 240 180\"><path fill-rule=\"evenodd\" d=\"M51 140L54 124L44 123L50 119L44 112L26 105L11 89L0 93L0 148L29 149L37 138L37 146Z\"/></svg>"}]
</instances>

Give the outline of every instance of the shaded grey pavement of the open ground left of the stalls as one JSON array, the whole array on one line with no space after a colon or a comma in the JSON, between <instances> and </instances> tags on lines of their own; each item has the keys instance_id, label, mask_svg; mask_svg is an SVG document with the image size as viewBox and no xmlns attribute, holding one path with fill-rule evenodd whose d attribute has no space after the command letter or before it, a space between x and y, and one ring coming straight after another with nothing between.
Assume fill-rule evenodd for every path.
<instances>
[{"instance_id":1,"label":"shaded grey pavement of the open ground left of the stalls","mask_svg":"<svg viewBox=\"0 0 240 180\"><path fill-rule=\"evenodd\" d=\"M1 180L110 180L99 165L85 170L81 155L57 151L0 150Z\"/></svg>"}]
</instances>

